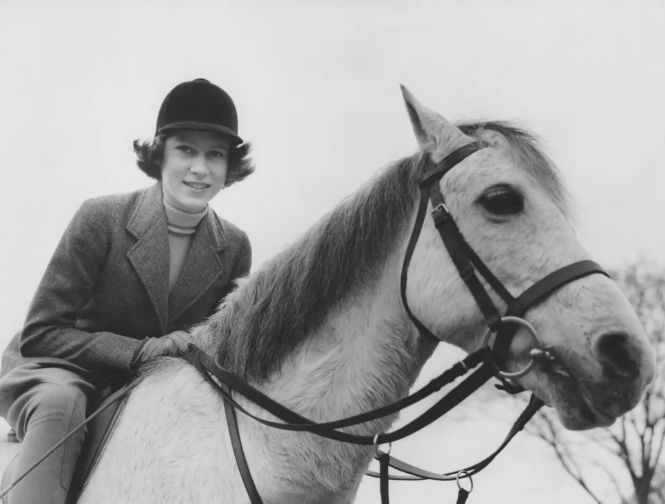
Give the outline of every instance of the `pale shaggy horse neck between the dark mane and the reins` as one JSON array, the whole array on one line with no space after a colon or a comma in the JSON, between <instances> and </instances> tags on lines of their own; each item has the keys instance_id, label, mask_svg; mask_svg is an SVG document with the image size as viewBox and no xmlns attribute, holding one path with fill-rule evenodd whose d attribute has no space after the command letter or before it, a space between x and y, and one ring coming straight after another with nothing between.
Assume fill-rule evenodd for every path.
<instances>
[{"instance_id":1,"label":"pale shaggy horse neck between the dark mane and the reins","mask_svg":"<svg viewBox=\"0 0 665 504\"><path fill-rule=\"evenodd\" d=\"M434 345L416 336L400 301L400 258L377 282L335 309L263 387L267 395L319 421L336 420L407 395ZM369 429L387 429L389 417Z\"/></svg>"}]
</instances>

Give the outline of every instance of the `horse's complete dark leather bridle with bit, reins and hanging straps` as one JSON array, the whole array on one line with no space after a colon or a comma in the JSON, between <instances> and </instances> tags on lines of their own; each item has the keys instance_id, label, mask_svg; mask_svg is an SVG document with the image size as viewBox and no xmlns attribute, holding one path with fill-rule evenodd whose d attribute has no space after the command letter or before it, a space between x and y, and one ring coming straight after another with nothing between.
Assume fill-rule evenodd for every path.
<instances>
[{"instance_id":1,"label":"horse's complete dark leather bridle with bit, reins and hanging straps","mask_svg":"<svg viewBox=\"0 0 665 504\"><path fill-rule=\"evenodd\" d=\"M526 375L537 361L554 361L557 359L553 354L551 348L535 347L531 350L529 363L518 372L504 372L499 368L499 363L504 363L511 341L515 334L516 326L524 327L533 336L535 343L538 343L537 333L533 326L526 322L522 316L531 307L538 305L544 299L549 297L553 292L560 289L569 282L573 282L578 278L591 275L593 273L601 273L608 276L603 268L596 262L584 260L569 264L562 267L553 273L545 276L534 285L526 289L524 293L517 298L514 298L504 287L493 273L488 269L486 264L479 258L473 251L469 244L465 241L459 228L457 227L452 215L448 212L447 206L441 194L439 181L450 169L463 161L466 157L470 156L477 150L486 147L486 145L469 144L460 147L451 154L447 155L440 163L425 170L420 177L420 203L418 205L418 214L416 215L416 222L414 229L411 232L411 238L407 246L405 260L402 264L402 274L400 278L400 291L402 296L402 303L405 307L407 314L411 321L416 325L421 335L432 341L441 341L432 332L430 332L423 323L411 312L409 304L407 303L406 287L407 287L407 272L411 262L411 256L414 253L416 242L420 235L425 220L425 213L429 201L432 203L432 219L434 225L438 230L445 248L452 258L459 275L468 286L480 312L482 313L485 323L488 327L486 335L484 336L483 343L479 350L472 352L465 359L459 361L450 369L445 370L441 375L434 378L429 384L425 385L415 393L400 399L387 406L382 406L373 411L354 415L352 417L344 418L342 420L335 420L332 422L313 422L307 418L299 415L298 413L286 408L285 406L270 399L256 388L250 386L245 381L232 375L227 370L224 370L215 363L215 361L204 352L196 349L184 355L192 363L201 375L208 381L208 383L215 388L215 390L224 398L224 409L227 417L227 424L229 433L231 435L231 443L233 451L236 456L236 462L240 469L240 476L247 489L251 504L263 504L263 501L258 494L254 480L251 477L245 452L242 449L242 442L240 440L240 433L238 432L238 422L236 419L236 410L251 417L256 422L260 422L266 426L274 429L283 429L287 431L306 431L320 435L324 438L337 440L340 442L348 442L353 444L360 444L365 446L372 446L375 449L375 458L379 461L380 472L377 474L373 471L367 471L366 474L373 477L380 478L380 492L382 504L389 504L388 496L388 482L390 479L395 480L441 480L441 481L456 481L459 487L458 504L464 503L472 488L472 476L475 476L479 471L484 469L494 458L506 447L508 442L524 428L527 422L535 415L539 408L543 406L541 399L535 396L531 397L529 405L526 406L522 414L517 418L515 424L506 435L506 438L499 445L499 447L484 460L481 460L475 465L470 465L458 471L451 471L444 474L438 474L424 469L419 469L412 465L402 462L391 456L390 449L387 452L378 449L380 444L406 438L408 435L423 429L425 426L431 424L442 415L450 411L454 406L461 403L466 397L471 395L475 390L480 388L490 378L496 377L502 381L501 385L497 388L502 388L508 393L522 392L524 389L517 386L512 379ZM504 316L499 314L499 310L495 307L488 292L484 289L478 274L482 276L486 282L494 289L499 297L504 300L508 309ZM488 345L491 334L497 333L493 348ZM425 397L429 397L436 393L444 385L450 384L455 379L470 373L461 384L450 390L447 395L439 399L434 406L431 406L425 413L411 420L408 424L401 426L395 431L389 433L376 433L375 435L357 435L340 431L344 427L355 426L376 420L387 415L392 415L401 411L407 406L416 404ZM216 380L215 380L216 378ZM218 383L219 381L219 383ZM233 399L233 393L236 392L245 396L249 401L254 402L268 413L274 415L280 422L273 422L264 420L249 413L243 408L236 399ZM389 475L388 468L393 467L405 475ZM470 488L465 489L461 485L461 480L468 478L470 480Z\"/></svg>"}]
</instances>

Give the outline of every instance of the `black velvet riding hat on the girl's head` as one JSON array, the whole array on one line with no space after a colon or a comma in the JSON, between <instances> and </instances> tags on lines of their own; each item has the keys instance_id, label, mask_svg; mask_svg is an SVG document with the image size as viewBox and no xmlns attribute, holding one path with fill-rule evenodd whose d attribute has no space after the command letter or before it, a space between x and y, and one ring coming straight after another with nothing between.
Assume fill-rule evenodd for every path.
<instances>
[{"instance_id":1,"label":"black velvet riding hat on the girl's head","mask_svg":"<svg viewBox=\"0 0 665 504\"><path fill-rule=\"evenodd\" d=\"M182 82L166 95L157 115L157 134L172 129L217 132L230 136L233 143L242 143L231 96L206 79Z\"/></svg>"}]
</instances>

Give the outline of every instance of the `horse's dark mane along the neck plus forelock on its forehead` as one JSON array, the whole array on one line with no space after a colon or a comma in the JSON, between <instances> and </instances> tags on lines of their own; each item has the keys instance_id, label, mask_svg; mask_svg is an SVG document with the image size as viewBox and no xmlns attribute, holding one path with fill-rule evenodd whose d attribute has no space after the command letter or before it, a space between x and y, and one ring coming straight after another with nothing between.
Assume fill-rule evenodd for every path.
<instances>
[{"instance_id":1,"label":"horse's dark mane along the neck plus forelock on its forehead","mask_svg":"<svg viewBox=\"0 0 665 504\"><path fill-rule=\"evenodd\" d=\"M565 208L556 167L535 137L509 123L459 125L479 140L483 129L503 134L517 161ZM371 287L398 246L418 199L418 175L428 159L400 159L344 199L224 299L197 327L218 364L245 380L265 381L308 335L361 289Z\"/></svg>"}]
</instances>

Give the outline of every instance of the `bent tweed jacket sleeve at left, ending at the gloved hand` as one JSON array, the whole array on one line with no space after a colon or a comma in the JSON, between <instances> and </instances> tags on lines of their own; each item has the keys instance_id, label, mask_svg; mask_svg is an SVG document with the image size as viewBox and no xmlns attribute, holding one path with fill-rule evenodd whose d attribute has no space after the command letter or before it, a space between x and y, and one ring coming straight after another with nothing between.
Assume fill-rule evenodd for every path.
<instances>
[{"instance_id":1,"label":"bent tweed jacket sleeve at left, ending at the gloved hand","mask_svg":"<svg viewBox=\"0 0 665 504\"><path fill-rule=\"evenodd\" d=\"M57 357L93 372L129 372L141 341L76 328L94 295L110 249L109 205L87 200L62 235L30 303L21 334L24 357Z\"/></svg>"}]
</instances>

